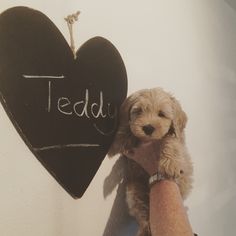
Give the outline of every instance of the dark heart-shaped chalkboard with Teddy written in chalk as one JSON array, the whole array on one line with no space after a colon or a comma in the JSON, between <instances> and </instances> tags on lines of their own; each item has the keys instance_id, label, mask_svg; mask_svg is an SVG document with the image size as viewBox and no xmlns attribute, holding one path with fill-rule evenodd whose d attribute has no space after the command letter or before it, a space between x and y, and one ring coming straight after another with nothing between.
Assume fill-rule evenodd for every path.
<instances>
[{"instance_id":1,"label":"dark heart-shaped chalkboard with Teddy written in chalk","mask_svg":"<svg viewBox=\"0 0 236 236\"><path fill-rule=\"evenodd\" d=\"M76 56L41 12L15 7L0 15L1 102L37 159L79 198L113 141L127 76L102 37Z\"/></svg>"}]
</instances>

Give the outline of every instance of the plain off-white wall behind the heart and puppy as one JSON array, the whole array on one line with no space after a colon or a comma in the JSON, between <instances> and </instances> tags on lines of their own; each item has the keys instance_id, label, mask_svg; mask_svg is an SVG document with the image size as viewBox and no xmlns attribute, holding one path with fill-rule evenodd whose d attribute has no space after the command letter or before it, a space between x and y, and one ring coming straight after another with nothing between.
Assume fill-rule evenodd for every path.
<instances>
[{"instance_id":1,"label":"plain off-white wall behind the heart and puppy","mask_svg":"<svg viewBox=\"0 0 236 236\"><path fill-rule=\"evenodd\" d=\"M199 235L233 236L236 226L236 7L234 0L1 0L48 15L69 39L64 17L81 10L76 44L101 35L123 56L129 93L161 86L189 116L195 187L187 200ZM114 194L105 159L85 196L73 200L30 153L0 106L0 234L101 236ZM12 145L13 144L13 145Z\"/></svg>"}]
</instances>

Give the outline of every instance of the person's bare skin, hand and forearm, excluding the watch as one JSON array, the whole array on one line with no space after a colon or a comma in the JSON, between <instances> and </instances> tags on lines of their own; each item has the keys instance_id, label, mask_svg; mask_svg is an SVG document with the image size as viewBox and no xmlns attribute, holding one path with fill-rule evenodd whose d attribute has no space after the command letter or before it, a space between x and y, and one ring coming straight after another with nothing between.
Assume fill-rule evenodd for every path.
<instances>
[{"instance_id":1,"label":"person's bare skin, hand and forearm, excluding the watch","mask_svg":"<svg viewBox=\"0 0 236 236\"><path fill-rule=\"evenodd\" d=\"M158 143L144 142L126 155L151 176L158 169L157 149ZM151 187L150 227L152 236L193 236L179 188L174 181L162 180Z\"/></svg>"}]
</instances>

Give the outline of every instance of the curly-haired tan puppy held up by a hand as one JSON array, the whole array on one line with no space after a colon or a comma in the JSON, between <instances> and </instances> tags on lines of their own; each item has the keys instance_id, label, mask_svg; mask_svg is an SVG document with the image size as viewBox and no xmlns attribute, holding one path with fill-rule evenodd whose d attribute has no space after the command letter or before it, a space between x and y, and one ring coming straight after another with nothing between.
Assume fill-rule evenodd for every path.
<instances>
[{"instance_id":1,"label":"curly-haired tan puppy held up by a hand","mask_svg":"<svg viewBox=\"0 0 236 236\"><path fill-rule=\"evenodd\" d=\"M104 181L104 196L117 184L126 184L129 214L139 224L138 236L151 235L149 229L148 174L125 153L141 142L157 144L159 173L176 181L182 198L192 188L192 162L185 146L187 116L179 102L161 88L144 89L128 97L121 106L120 125L108 153L121 156ZM124 158L125 157L125 158ZM145 158L145 157L143 157Z\"/></svg>"}]
</instances>

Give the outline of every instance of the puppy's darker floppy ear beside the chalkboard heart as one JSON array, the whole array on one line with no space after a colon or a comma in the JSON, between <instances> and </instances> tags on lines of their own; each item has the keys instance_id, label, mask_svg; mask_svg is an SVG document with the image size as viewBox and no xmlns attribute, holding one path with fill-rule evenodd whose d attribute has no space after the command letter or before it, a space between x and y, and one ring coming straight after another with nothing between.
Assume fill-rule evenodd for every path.
<instances>
[{"instance_id":1,"label":"puppy's darker floppy ear beside the chalkboard heart","mask_svg":"<svg viewBox=\"0 0 236 236\"><path fill-rule=\"evenodd\" d=\"M128 140L131 139L132 134L129 126L130 110L133 107L133 105L137 102L138 96L139 96L138 92L130 95L128 98L125 99L125 101L120 107L119 127L116 132L113 144L108 152L109 157L112 157L118 153L122 153L124 151L126 143L128 142Z\"/></svg>"}]
</instances>

